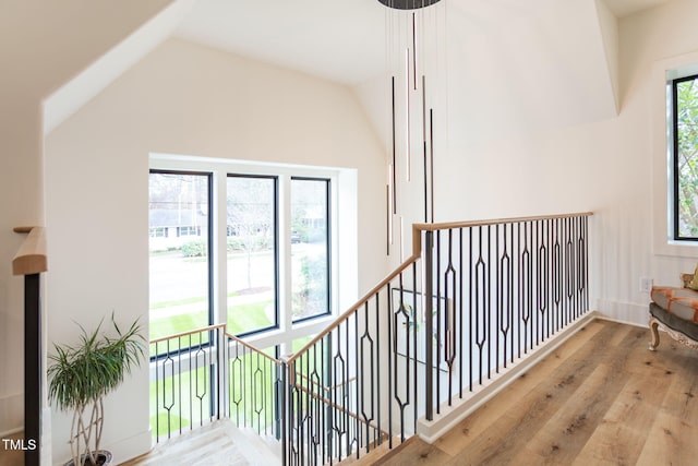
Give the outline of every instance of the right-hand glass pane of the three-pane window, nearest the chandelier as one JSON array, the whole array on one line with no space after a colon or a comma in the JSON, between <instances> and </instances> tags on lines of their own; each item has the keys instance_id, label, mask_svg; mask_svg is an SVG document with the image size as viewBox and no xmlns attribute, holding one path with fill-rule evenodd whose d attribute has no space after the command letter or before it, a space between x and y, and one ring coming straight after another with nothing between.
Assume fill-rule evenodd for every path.
<instances>
[{"instance_id":1,"label":"right-hand glass pane of the three-pane window, nearest the chandelier","mask_svg":"<svg viewBox=\"0 0 698 466\"><path fill-rule=\"evenodd\" d=\"M329 180L291 180L293 321L329 310Z\"/></svg>"}]
</instances>

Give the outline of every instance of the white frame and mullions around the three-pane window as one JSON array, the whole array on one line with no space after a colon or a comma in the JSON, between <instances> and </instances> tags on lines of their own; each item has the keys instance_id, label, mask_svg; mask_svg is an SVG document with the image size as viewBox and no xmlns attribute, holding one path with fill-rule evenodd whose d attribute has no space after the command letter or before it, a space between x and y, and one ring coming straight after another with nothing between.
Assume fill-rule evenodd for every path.
<instances>
[{"instance_id":1,"label":"white frame and mullions around the three-pane window","mask_svg":"<svg viewBox=\"0 0 698 466\"><path fill-rule=\"evenodd\" d=\"M228 174L265 175L278 179L279 231L279 322L278 327L245 336L257 348L280 345L281 354L292 353L292 343L322 332L344 310L358 299L358 230L357 174L354 169L335 167L272 164L249 160L220 159L186 155L149 155L151 169L196 170L213 174L213 307L214 323L227 320L227 199ZM291 312L291 238L290 193L292 177L326 178L330 180L330 307L332 313L293 323ZM224 219L221 222L221 219ZM341 264L341 266L340 266ZM341 286L338 284L341 283Z\"/></svg>"}]
</instances>

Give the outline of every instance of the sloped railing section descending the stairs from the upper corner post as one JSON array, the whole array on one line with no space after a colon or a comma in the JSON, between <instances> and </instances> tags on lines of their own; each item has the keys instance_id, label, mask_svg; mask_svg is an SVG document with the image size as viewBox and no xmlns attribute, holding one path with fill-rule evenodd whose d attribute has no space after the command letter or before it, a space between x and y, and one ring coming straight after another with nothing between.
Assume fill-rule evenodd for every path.
<instances>
[{"instance_id":1,"label":"sloped railing section descending the stairs from the upper corner post","mask_svg":"<svg viewBox=\"0 0 698 466\"><path fill-rule=\"evenodd\" d=\"M285 360L284 464L332 464L414 433L418 261L409 258ZM318 387L332 390L323 396Z\"/></svg>"}]
</instances>

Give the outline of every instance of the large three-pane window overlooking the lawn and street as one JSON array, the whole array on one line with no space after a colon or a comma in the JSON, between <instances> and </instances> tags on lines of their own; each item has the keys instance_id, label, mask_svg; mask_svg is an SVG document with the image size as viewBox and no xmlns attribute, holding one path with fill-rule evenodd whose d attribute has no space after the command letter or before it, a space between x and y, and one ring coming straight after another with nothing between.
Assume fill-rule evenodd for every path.
<instances>
[{"instance_id":1,"label":"large three-pane window overlooking the lawn and street","mask_svg":"<svg viewBox=\"0 0 698 466\"><path fill-rule=\"evenodd\" d=\"M290 348L334 311L332 177L239 168L151 170L152 339L226 323Z\"/></svg>"}]
</instances>

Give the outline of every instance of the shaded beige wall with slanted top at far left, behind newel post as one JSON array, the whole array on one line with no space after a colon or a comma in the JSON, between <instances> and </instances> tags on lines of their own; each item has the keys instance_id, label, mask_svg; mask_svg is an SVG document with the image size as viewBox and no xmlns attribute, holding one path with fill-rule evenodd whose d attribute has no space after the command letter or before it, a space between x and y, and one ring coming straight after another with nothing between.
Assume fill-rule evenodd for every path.
<instances>
[{"instance_id":1,"label":"shaded beige wall with slanted top at far left, behind newel post","mask_svg":"<svg viewBox=\"0 0 698 466\"><path fill-rule=\"evenodd\" d=\"M10 264L23 239L12 228L44 225L41 99L168 2L128 0L118 11L110 0L2 2L0 433L23 426L23 288Z\"/></svg>"}]
</instances>

